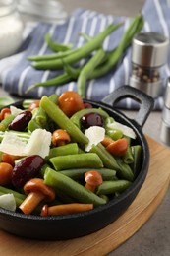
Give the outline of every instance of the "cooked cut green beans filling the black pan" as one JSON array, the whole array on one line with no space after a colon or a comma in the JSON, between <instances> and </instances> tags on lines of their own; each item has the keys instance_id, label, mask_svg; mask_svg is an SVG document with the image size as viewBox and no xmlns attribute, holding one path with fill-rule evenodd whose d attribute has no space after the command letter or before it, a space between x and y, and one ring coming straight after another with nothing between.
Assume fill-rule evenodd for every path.
<instances>
[{"instance_id":1,"label":"cooked cut green beans filling the black pan","mask_svg":"<svg viewBox=\"0 0 170 256\"><path fill-rule=\"evenodd\" d=\"M28 110L28 106L33 100L25 100L23 107ZM51 133L55 129L63 129L71 137L71 141L65 145L50 145L48 156L44 158L44 163L35 177L41 178L43 182L52 187L56 192L56 197L49 206L81 203L92 204L98 207L106 204L115 197L118 197L126 189L133 185L137 172L139 171L142 157L142 146L135 145L135 140L125 136L119 130L111 130L107 127L108 122L114 122L113 117L101 108L84 108L76 111L68 117L60 108L58 96L43 96L40 104L32 110L33 114L28 122L28 127L24 131L13 131L8 129L8 122L5 130L0 131L0 142L3 141L5 132L17 135L23 141L28 142L31 133L36 129L46 129ZM99 142L92 145L89 152L85 152L85 145L88 138L81 128L81 118L85 114L99 114L104 119L103 127L106 136L117 141L120 138L128 140L128 149L121 157L110 154L104 145ZM4 120L9 120L7 115L0 122L0 127ZM14 119L14 118L12 118ZM7 122L6 122L7 123ZM38 143L38 142L37 142ZM0 164L3 162L3 152L0 152ZM25 159L25 157L24 157ZM23 158L16 160L20 163ZM90 170L97 171L102 177L102 183L92 192L85 187L85 173ZM0 175L1 182L1 175ZM13 185L0 186L0 195L13 194L17 210L26 199L23 187ZM32 212L39 215L42 204L40 203Z\"/></svg>"}]
</instances>

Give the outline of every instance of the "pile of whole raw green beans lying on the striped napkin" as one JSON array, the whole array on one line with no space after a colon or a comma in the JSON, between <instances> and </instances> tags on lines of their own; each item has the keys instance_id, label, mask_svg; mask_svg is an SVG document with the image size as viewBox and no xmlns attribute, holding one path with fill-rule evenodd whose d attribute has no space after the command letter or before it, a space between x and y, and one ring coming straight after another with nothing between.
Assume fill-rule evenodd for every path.
<instances>
[{"instance_id":1,"label":"pile of whole raw green beans lying on the striped napkin","mask_svg":"<svg viewBox=\"0 0 170 256\"><path fill-rule=\"evenodd\" d=\"M120 28L122 24L111 24L103 32L94 37L82 34L86 43L82 47L73 48L72 45L58 44L46 34L45 40L53 51L57 53L49 55L28 56L28 60L33 61L32 67L40 70L64 69L61 75L49 79L45 82L36 83L28 87L28 91L37 87L61 86L71 81L77 81L78 93L85 97L86 82L97 79L112 70L118 61L123 57L125 50L131 45L134 35L141 32L143 27L142 15L137 15L130 23L128 29L123 34L119 45L109 52L102 48L104 39L111 33ZM87 58L83 66L75 68L74 65L80 60Z\"/></svg>"}]
</instances>

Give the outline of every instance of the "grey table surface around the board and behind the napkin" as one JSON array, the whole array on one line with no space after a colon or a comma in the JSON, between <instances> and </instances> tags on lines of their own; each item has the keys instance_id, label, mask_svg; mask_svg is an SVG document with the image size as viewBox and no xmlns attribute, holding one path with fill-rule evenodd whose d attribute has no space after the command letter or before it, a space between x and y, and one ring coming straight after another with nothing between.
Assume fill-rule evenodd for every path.
<instances>
[{"instance_id":1,"label":"grey table surface around the board and behind the napkin","mask_svg":"<svg viewBox=\"0 0 170 256\"><path fill-rule=\"evenodd\" d=\"M132 17L141 9L144 0L60 0L70 14L75 8L83 7L105 14ZM9 96L0 87L0 96ZM15 99L17 99L15 97ZM133 118L136 111L125 110ZM153 111L143 127L143 132L161 143L159 134L161 112ZM109 256L170 256L170 188L155 213L129 240L110 252Z\"/></svg>"}]
</instances>

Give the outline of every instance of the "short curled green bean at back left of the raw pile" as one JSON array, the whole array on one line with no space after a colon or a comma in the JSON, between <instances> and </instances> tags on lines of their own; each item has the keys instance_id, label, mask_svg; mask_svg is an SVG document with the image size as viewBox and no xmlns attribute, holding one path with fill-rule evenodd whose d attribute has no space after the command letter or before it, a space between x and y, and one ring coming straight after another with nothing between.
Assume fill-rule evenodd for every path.
<instances>
[{"instance_id":1,"label":"short curled green bean at back left of the raw pile","mask_svg":"<svg viewBox=\"0 0 170 256\"><path fill-rule=\"evenodd\" d=\"M52 40L51 35L49 32L45 34L45 41L48 44L48 47L53 51L67 51L73 47L73 45L70 44L63 44L63 43L56 43Z\"/></svg>"}]
</instances>

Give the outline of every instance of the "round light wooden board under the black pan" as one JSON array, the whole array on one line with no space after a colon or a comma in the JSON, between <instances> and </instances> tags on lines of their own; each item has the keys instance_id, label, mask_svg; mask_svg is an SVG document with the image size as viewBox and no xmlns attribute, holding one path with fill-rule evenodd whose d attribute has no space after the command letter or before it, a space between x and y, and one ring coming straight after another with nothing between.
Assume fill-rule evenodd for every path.
<instances>
[{"instance_id":1,"label":"round light wooden board under the black pan","mask_svg":"<svg viewBox=\"0 0 170 256\"><path fill-rule=\"evenodd\" d=\"M162 201L170 181L170 150L149 137L150 166L133 204L116 222L90 235L67 241L37 241L0 231L1 256L105 255L130 238ZM74 232L74 230L73 230Z\"/></svg>"}]
</instances>

